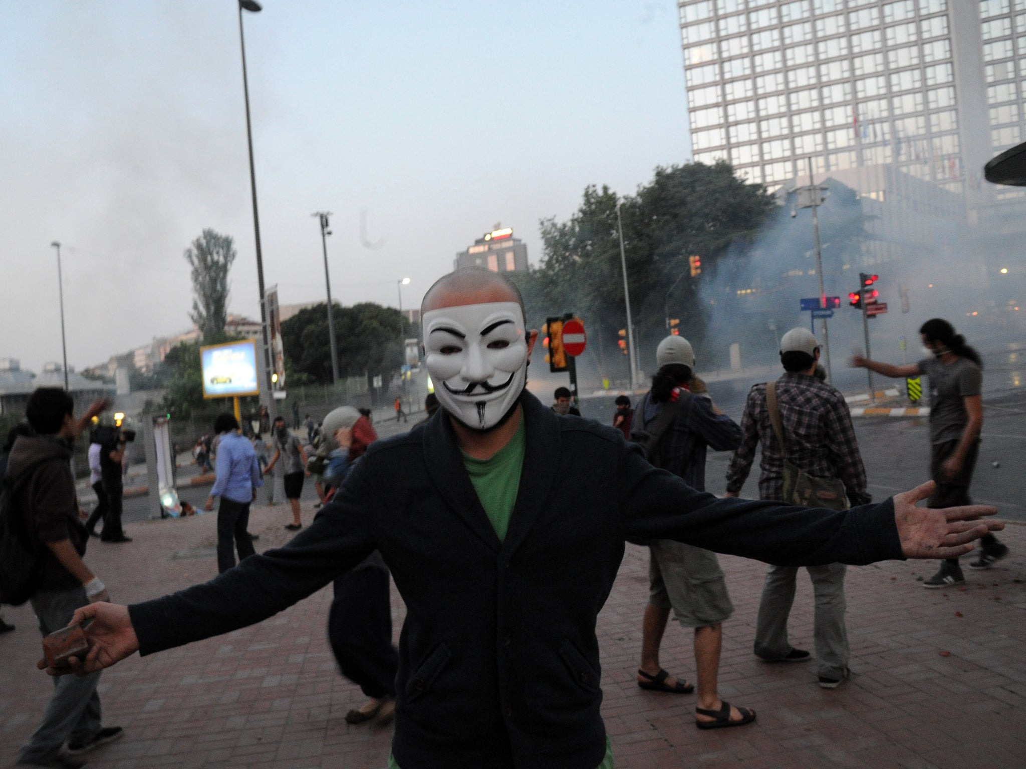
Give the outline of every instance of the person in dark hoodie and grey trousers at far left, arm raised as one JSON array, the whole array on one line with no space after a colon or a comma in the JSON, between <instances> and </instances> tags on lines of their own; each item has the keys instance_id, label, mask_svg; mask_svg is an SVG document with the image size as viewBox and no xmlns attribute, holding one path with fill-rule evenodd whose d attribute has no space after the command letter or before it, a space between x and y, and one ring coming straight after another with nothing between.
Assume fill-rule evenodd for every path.
<instances>
[{"instance_id":1,"label":"person in dark hoodie and grey trousers at far left, arm raised","mask_svg":"<svg viewBox=\"0 0 1026 769\"><path fill-rule=\"evenodd\" d=\"M69 624L76 609L109 600L107 588L82 561L89 536L78 517L71 472L71 446L108 405L96 401L76 420L70 395L60 388L38 388L25 409L35 434L18 436L10 450L7 474L14 510L41 549L41 576L30 601L44 636ZM121 727L105 728L101 721L98 682L98 672L54 682L39 727L18 751L18 765L84 766L76 756L122 736ZM67 753L62 753L66 741Z\"/></svg>"}]
</instances>

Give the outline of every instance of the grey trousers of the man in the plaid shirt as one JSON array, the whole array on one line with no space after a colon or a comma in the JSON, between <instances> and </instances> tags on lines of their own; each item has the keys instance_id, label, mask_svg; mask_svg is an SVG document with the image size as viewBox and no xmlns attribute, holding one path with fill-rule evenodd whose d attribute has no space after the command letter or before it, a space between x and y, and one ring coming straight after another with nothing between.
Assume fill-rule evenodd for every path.
<instances>
[{"instance_id":1,"label":"grey trousers of the man in the plaid shirt","mask_svg":"<svg viewBox=\"0 0 1026 769\"><path fill-rule=\"evenodd\" d=\"M819 675L842 679L847 675L851 649L844 626L844 572L841 563L806 566L816 596L813 636ZM797 566L771 566L762 585L762 600L755 625L755 655L763 659L787 656L793 648L787 640L787 618L794 603Z\"/></svg>"}]
</instances>

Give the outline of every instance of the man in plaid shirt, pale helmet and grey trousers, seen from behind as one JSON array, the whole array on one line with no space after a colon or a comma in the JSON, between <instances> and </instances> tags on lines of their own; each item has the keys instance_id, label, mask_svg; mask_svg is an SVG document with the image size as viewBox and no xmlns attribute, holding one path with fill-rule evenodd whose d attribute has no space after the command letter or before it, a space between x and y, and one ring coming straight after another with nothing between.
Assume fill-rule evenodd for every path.
<instances>
[{"instance_id":1,"label":"man in plaid shirt, pale helmet and grey trousers, seen from behind","mask_svg":"<svg viewBox=\"0 0 1026 769\"><path fill-rule=\"evenodd\" d=\"M836 478L844 484L849 503L871 501L866 492L866 470L855 439L855 428L844 397L816 377L820 347L804 328L795 328L781 339L785 373L777 380L777 403L787 444L787 457L812 476ZM784 457L774 435L766 406L766 386L756 385L748 394L741 420L741 446L726 471L726 493L737 496L762 443L759 498L784 498ZM834 689L847 677L851 656L844 626L843 564L811 566L808 576L816 594L814 636L819 660L820 686ZM794 602L797 567L771 566L762 589L755 630L755 654L767 662L801 662L807 651L787 639L787 618Z\"/></svg>"}]
</instances>

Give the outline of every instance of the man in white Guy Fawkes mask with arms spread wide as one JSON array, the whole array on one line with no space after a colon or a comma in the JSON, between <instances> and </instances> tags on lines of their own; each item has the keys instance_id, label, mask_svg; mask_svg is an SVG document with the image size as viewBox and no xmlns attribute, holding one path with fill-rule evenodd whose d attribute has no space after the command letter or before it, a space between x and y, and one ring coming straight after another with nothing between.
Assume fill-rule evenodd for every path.
<instances>
[{"instance_id":1,"label":"man in white Guy Fawkes mask with arms spread wide","mask_svg":"<svg viewBox=\"0 0 1026 769\"><path fill-rule=\"evenodd\" d=\"M610 767L595 622L625 538L866 564L965 553L1002 526L965 520L992 508L916 508L933 484L843 512L695 491L620 431L559 417L524 390L537 332L508 278L452 273L421 309L442 410L374 443L284 548L172 596L78 610L93 648L73 670L259 622L378 549L407 607L390 766Z\"/></svg>"}]
</instances>

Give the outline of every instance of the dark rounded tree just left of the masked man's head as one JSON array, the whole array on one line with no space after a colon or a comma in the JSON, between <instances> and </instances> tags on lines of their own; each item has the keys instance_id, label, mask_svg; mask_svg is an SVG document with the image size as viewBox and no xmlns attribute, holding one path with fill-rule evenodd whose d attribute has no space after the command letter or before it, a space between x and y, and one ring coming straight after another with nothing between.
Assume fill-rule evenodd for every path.
<instances>
[{"instance_id":1,"label":"dark rounded tree just left of the masked man's head","mask_svg":"<svg viewBox=\"0 0 1026 769\"><path fill-rule=\"evenodd\" d=\"M419 329L402 318L398 310L381 305L336 305L332 316L341 376L381 374L387 381L402 365L403 339L419 335ZM286 377L289 385L331 381L326 305L301 310L282 323L281 339L285 348L285 365L291 372ZM302 380L301 376L308 378Z\"/></svg>"}]
</instances>

